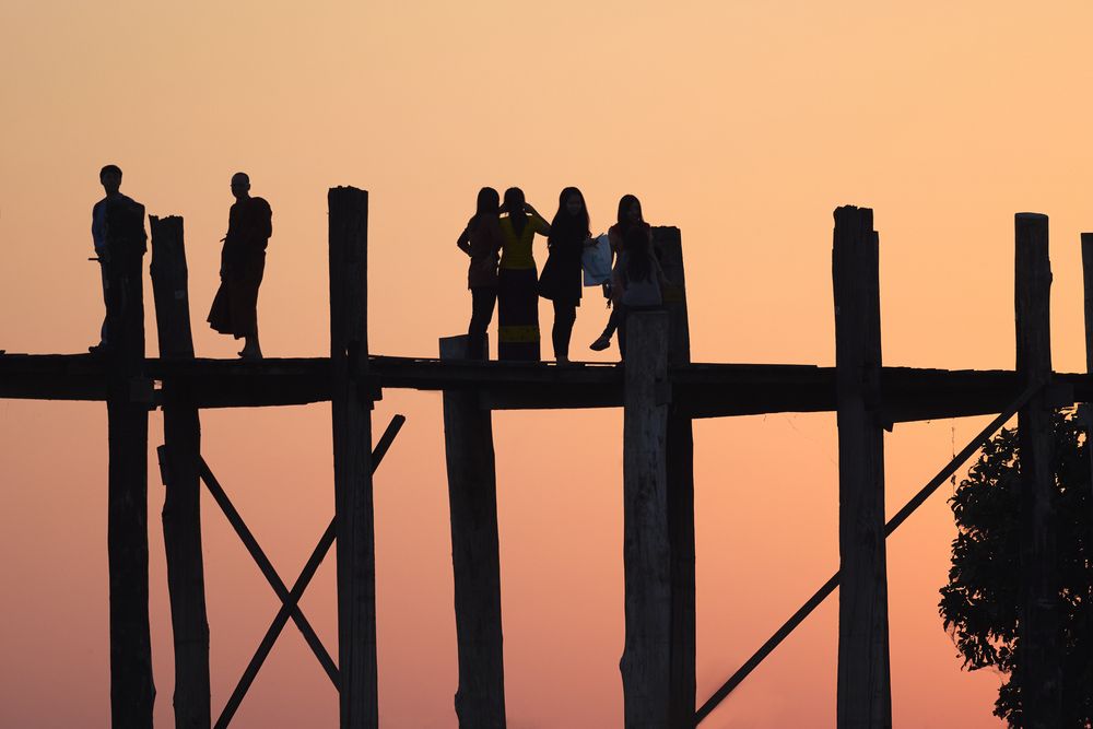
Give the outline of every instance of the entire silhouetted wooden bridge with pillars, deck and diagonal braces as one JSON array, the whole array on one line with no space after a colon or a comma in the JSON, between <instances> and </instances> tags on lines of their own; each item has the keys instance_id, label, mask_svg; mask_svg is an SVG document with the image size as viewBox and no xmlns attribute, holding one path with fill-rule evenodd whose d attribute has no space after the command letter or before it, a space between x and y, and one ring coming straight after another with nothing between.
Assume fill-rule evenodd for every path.
<instances>
[{"instance_id":1,"label":"entire silhouetted wooden bridge with pillars, deck and diagonal braces","mask_svg":"<svg viewBox=\"0 0 1093 729\"><path fill-rule=\"evenodd\" d=\"M674 295L663 311L631 315L625 364L472 362L465 338L442 339L439 358L369 354L367 193L334 188L330 213L331 354L261 361L193 356L183 221L151 219L151 274L161 356L144 356L139 306L126 311L122 344L106 355L0 355L0 398L106 402L109 413L111 716L150 727L154 690L148 615L148 413L162 408L166 485L164 543L175 644L176 725L212 725L209 628L201 552L200 483L224 510L282 609L215 726L226 726L278 635L292 620L339 691L341 726L378 725L372 473L401 416L372 448L372 405L393 389L444 392L459 649L456 712L462 727L504 727L496 475L490 413L506 409L624 409L626 638L620 665L627 727L694 727L835 587L839 591L837 724L890 727L884 540L1018 413L1023 514L1022 636L1029 726L1055 726L1060 645L1050 515L1053 409L1086 402L1093 378L1050 365L1047 217L1015 219L1014 371L884 367L881 361L879 239L872 211L835 211L833 281L836 366L690 362L682 246L655 228ZM1082 239L1086 292L1093 236ZM1088 294L1089 296L1089 294ZM1086 299L1086 320L1091 304ZM1086 325L1088 332L1090 325ZM1089 339L1089 337L1088 337ZM331 402L336 515L297 580L278 576L201 458L199 412ZM694 419L775 412L835 412L839 447L841 569L725 685L695 695ZM997 414L889 522L884 522L884 430L896 423ZM338 647L331 657L298 601L337 543ZM756 643L759 643L756 640Z\"/></svg>"}]
</instances>

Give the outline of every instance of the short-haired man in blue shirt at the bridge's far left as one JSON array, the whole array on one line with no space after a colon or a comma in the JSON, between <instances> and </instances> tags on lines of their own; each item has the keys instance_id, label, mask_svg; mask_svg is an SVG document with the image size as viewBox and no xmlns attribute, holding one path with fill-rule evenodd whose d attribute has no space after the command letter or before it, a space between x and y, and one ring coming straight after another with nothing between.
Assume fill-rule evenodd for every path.
<instances>
[{"instance_id":1,"label":"short-haired man in blue shirt at the bridge's far left","mask_svg":"<svg viewBox=\"0 0 1093 729\"><path fill-rule=\"evenodd\" d=\"M117 345L122 327L138 316L130 299L143 293L141 264L148 250L144 205L121 195L121 168L106 165L98 172L98 181L106 197L96 202L91 211L91 237L103 273L106 316L98 344L89 348L93 353ZM142 316L143 306L140 310ZM140 324L143 326L143 321Z\"/></svg>"}]
</instances>

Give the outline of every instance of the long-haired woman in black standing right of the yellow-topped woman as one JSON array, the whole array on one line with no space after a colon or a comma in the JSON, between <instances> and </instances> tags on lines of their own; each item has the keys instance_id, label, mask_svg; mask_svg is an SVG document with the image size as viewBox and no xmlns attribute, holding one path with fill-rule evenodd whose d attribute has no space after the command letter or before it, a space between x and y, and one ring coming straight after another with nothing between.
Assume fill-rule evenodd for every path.
<instances>
[{"instance_id":1,"label":"long-haired woman in black standing right of the yellow-topped woman","mask_svg":"<svg viewBox=\"0 0 1093 729\"><path fill-rule=\"evenodd\" d=\"M546 238L546 262L539 277L539 295L554 303L554 360L569 361L569 337L580 306L580 255L592 243L585 196L575 187L562 190Z\"/></svg>"}]
</instances>

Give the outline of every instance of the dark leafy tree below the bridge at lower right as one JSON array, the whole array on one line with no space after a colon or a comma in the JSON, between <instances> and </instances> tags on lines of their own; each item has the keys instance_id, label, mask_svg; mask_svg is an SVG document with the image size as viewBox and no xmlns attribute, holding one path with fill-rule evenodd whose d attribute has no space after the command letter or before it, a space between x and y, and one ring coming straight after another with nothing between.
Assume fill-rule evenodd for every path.
<instances>
[{"instance_id":1,"label":"dark leafy tree below the bridge at lower right","mask_svg":"<svg viewBox=\"0 0 1093 729\"><path fill-rule=\"evenodd\" d=\"M1093 727L1091 671L1090 461L1085 427L1072 411L1055 419L1056 484L1063 630L1065 727ZM964 668L1006 674L995 715L1023 727L1021 715L1020 452L1016 430L1002 430L983 448L949 499L956 518L949 584L939 610Z\"/></svg>"}]
</instances>

